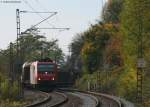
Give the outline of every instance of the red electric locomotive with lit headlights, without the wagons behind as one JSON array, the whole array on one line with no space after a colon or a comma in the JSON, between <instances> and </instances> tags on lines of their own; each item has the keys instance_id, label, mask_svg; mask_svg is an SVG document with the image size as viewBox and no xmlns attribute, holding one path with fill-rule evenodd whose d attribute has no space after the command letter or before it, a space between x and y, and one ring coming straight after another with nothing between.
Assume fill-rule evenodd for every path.
<instances>
[{"instance_id":1,"label":"red electric locomotive with lit headlights, without the wagons behind","mask_svg":"<svg viewBox=\"0 0 150 107\"><path fill-rule=\"evenodd\" d=\"M30 86L53 86L57 81L58 67L52 60L26 62L22 67L22 83Z\"/></svg>"}]
</instances>

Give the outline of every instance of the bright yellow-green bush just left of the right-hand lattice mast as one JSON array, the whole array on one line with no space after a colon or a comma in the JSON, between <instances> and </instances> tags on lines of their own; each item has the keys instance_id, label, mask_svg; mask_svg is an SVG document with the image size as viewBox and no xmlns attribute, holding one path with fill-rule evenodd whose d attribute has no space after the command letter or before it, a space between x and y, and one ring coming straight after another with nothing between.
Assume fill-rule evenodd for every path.
<instances>
[{"instance_id":1,"label":"bright yellow-green bush just left of the right-hand lattice mast","mask_svg":"<svg viewBox=\"0 0 150 107\"><path fill-rule=\"evenodd\" d=\"M129 70L128 70L129 69ZM136 98L136 70L133 68L125 68L120 79L117 82L116 94L130 101L135 101Z\"/></svg>"}]
</instances>

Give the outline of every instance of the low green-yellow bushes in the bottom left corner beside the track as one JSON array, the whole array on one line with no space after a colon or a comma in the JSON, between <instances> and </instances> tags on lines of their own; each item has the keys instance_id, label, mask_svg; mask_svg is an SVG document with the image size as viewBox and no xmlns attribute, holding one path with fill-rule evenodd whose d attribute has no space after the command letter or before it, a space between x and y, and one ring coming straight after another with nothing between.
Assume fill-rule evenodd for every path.
<instances>
[{"instance_id":1,"label":"low green-yellow bushes in the bottom left corner beside the track","mask_svg":"<svg viewBox=\"0 0 150 107\"><path fill-rule=\"evenodd\" d=\"M18 83L11 83L4 75L0 74L0 107L23 107L30 100L18 98Z\"/></svg>"}]
</instances>

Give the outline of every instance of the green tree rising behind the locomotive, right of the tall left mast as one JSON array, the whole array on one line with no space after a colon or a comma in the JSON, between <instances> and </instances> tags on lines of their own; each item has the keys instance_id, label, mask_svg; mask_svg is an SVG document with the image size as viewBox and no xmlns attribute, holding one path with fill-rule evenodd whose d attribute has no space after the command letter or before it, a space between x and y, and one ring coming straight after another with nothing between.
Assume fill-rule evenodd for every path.
<instances>
[{"instance_id":1,"label":"green tree rising behind the locomotive, right of the tall left mast","mask_svg":"<svg viewBox=\"0 0 150 107\"><path fill-rule=\"evenodd\" d=\"M62 50L57 45L57 40L47 41L44 36L29 33L19 38L21 43L21 55L24 61L41 59L41 57L50 57L52 60L63 59Z\"/></svg>"}]
</instances>

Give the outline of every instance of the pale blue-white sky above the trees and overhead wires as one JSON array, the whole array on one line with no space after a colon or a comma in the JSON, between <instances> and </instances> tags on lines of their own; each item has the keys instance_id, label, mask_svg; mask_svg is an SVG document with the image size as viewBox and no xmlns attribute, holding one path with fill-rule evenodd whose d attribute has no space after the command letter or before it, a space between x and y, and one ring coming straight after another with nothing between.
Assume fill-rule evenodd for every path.
<instances>
[{"instance_id":1,"label":"pale blue-white sky above the trees and overhead wires","mask_svg":"<svg viewBox=\"0 0 150 107\"><path fill-rule=\"evenodd\" d=\"M20 11L58 12L41 23L39 28L61 27L70 30L40 30L47 40L58 39L59 47L68 54L68 46L77 33L84 32L100 19L105 0L20 0L21 3L3 3L0 0L0 49L5 49L16 40L16 9ZM6 1L6 0L5 0ZM19 1L19 0L7 0ZM50 13L20 14L21 32L37 24Z\"/></svg>"}]
</instances>

